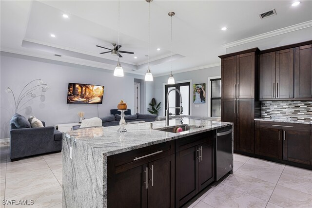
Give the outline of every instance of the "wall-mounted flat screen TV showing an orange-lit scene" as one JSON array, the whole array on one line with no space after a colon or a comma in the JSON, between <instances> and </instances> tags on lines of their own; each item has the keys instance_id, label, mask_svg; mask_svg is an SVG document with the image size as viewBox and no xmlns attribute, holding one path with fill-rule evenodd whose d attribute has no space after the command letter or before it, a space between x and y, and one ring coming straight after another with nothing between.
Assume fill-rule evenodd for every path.
<instances>
[{"instance_id":1,"label":"wall-mounted flat screen TV showing an orange-lit scene","mask_svg":"<svg viewBox=\"0 0 312 208\"><path fill-rule=\"evenodd\" d=\"M102 104L104 86L68 83L67 103Z\"/></svg>"}]
</instances>

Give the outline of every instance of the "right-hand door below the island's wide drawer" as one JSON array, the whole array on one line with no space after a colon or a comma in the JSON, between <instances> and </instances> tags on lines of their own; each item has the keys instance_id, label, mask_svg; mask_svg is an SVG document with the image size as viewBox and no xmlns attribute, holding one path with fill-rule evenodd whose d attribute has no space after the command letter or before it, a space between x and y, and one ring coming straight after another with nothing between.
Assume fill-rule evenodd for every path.
<instances>
[{"instance_id":1,"label":"right-hand door below the island's wide drawer","mask_svg":"<svg viewBox=\"0 0 312 208\"><path fill-rule=\"evenodd\" d=\"M173 158L174 159L174 158ZM171 155L148 164L148 207L174 207L174 161ZM130 207L130 206L128 206Z\"/></svg>"}]
</instances>

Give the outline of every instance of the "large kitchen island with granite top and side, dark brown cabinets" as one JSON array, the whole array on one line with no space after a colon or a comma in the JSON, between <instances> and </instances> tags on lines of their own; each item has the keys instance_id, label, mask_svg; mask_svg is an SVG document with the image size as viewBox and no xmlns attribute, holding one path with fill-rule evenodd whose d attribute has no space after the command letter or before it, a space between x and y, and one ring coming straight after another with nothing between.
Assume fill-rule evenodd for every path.
<instances>
[{"instance_id":1,"label":"large kitchen island with granite top and side, dark brown cabinets","mask_svg":"<svg viewBox=\"0 0 312 208\"><path fill-rule=\"evenodd\" d=\"M181 126L178 119L170 120L169 125L170 128ZM165 121L153 122L153 129L149 123L138 123L126 125L127 132L117 132L119 127L112 126L63 133L63 207L119 207L123 200L133 203L127 207L135 207L136 203L150 207L147 201L153 200L164 201L166 207L184 204L215 180L215 130L224 127L233 130L233 126L190 118L184 118L183 125L188 129L179 133L166 131ZM188 160L188 153L195 157ZM210 155L210 161L205 161L203 155ZM188 193L179 193L185 195L180 200L175 197L175 189L184 175L175 172L192 164L196 170L190 168L187 177L196 175L199 185ZM209 178L202 171L210 172ZM133 198L136 194L139 199ZM166 194L167 202L159 194Z\"/></svg>"}]
</instances>

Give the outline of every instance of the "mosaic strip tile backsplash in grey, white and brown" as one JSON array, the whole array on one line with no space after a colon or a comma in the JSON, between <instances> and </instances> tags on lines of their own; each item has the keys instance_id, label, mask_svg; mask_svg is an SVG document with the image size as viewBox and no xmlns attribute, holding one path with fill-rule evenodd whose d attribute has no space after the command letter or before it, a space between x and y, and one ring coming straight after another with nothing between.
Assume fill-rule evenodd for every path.
<instances>
[{"instance_id":1,"label":"mosaic strip tile backsplash in grey, white and brown","mask_svg":"<svg viewBox=\"0 0 312 208\"><path fill-rule=\"evenodd\" d=\"M261 117L312 121L312 101L262 101Z\"/></svg>"}]
</instances>

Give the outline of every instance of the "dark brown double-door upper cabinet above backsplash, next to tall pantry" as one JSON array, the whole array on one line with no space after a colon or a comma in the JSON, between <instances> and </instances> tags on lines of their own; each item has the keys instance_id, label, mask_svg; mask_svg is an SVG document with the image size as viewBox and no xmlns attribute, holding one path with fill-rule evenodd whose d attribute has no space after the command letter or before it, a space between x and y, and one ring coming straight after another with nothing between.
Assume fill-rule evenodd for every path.
<instances>
[{"instance_id":1,"label":"dark brown double-door upper cabinet above backsplash, next to tall pantry","mask_svg":"<svg viewBox=\"0 0 312 208\"><path fill-rule=\"evenodd\" d=\"M293 48L259 56L259 99L293 98Z\"/></svg>"}]
</instances>

